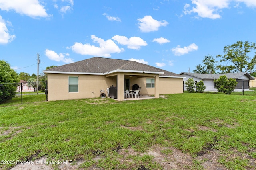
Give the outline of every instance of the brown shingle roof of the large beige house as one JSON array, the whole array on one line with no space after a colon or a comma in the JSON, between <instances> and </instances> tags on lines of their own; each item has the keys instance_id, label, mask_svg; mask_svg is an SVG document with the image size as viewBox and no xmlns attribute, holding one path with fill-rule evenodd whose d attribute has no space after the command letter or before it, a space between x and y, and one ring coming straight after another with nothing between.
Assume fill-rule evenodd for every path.
<instances>
[{"instance_id":1,"label":"brown shingle roof of the large beige house","mask_svg":"<svg viewBox=\"0 0 256 170\"><path fill-rule=\"evenodd\" d=\"M182 78L180 74L175 74L166 70L162 70L147 64L138 63L130 60L109 59L102 57L93 57L75 63L66 64L44 70L44 72L76 72L76 73L108 73L115 70L132 70L145 72L164 72L160 76L175 76Z\"/></svg>"}]
</instances>

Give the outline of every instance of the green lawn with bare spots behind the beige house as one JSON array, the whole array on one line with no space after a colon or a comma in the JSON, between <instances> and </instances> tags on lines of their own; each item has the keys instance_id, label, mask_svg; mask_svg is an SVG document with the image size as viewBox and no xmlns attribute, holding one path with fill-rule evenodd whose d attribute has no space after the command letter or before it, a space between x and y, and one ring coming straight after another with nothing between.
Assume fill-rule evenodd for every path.
<instances>
[{"instance_id":1,"label":"green lawn with bare spots behind the beige house","mask_svg":"<svg viewBox=\"0 0 256 170\"><path fill-rule=\"evenodd\" d=\"M0 159L86 160L89 169L162 169L144 154L161 146L189 154L202 169L198 155L220 152L228 169L255 169L255 96L170 94L166 98L118 102L110 98L39 102L0 109ZM127 150L128 156L119 154ZM132 149L140 154L129 154ZM244 155L248 156L244 158ZM100 156L98 161L95 157ZM0 164L7 169L12 164ZM142 168L143 167L143 168ZM186 167L185 167L186 168Z\"/></svg>"}]
</instances>

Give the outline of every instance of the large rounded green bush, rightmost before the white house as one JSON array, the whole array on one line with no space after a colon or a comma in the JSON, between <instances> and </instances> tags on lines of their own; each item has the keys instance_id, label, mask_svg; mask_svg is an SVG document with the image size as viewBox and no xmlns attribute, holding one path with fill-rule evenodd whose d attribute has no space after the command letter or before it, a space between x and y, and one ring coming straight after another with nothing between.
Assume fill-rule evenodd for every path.
<instances>
[{"instance_id":1,"label":"large rounded green bush, rightmost before the white house","mask_svg":"<svg viewBox=\"0 0 256 170\"><path fill-rule=\"evenodd\" d=\"M228 79L227 76L220 76L217 80L214 80L216 89L218 92L224 92L224 94L231 94L236 87L236 80L233 78Z\"/></svg>"}]
</instances>

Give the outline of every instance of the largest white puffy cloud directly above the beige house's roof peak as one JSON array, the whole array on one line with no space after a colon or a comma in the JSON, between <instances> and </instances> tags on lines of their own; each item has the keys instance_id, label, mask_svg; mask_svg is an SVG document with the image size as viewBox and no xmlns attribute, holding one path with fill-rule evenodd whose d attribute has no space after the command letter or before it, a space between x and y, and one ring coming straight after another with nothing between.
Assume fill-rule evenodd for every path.
<instances>
[{"instance_id":1,"label":"largest white puffy cloud directly above the beige house's roof peak","mask_svg":"<svg viewBox=\"0 0 256 170\"><path fill-rule=\"evenodd\" d=\"M111 39L104 41L104 39L98 38L95 35L91 35L91 39L100 46L96 47L90 44L74 43L71 49L78 54L97 57L111 57L111 53L121 53L124 51L123 48L120 49Z\"/></svg>"}]
</instances>

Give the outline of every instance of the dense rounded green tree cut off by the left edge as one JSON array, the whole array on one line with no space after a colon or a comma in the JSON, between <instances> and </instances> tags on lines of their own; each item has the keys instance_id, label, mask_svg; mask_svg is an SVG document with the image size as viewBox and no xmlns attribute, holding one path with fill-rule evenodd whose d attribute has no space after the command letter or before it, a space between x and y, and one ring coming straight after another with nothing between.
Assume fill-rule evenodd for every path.
<instances>
[{"instance_id":1,"label":"dense rounded green tree cut off by the left edge","mask_svg":"<svg viewBox=\"0 0 256 170\"><path fill-rule=\"evenodd\" d=\"M10 67L10 64L4 60L0 60L0 102L15 97L18 85L15 83L18 82L18 74Z\"/></svg>"}]
</instances>

